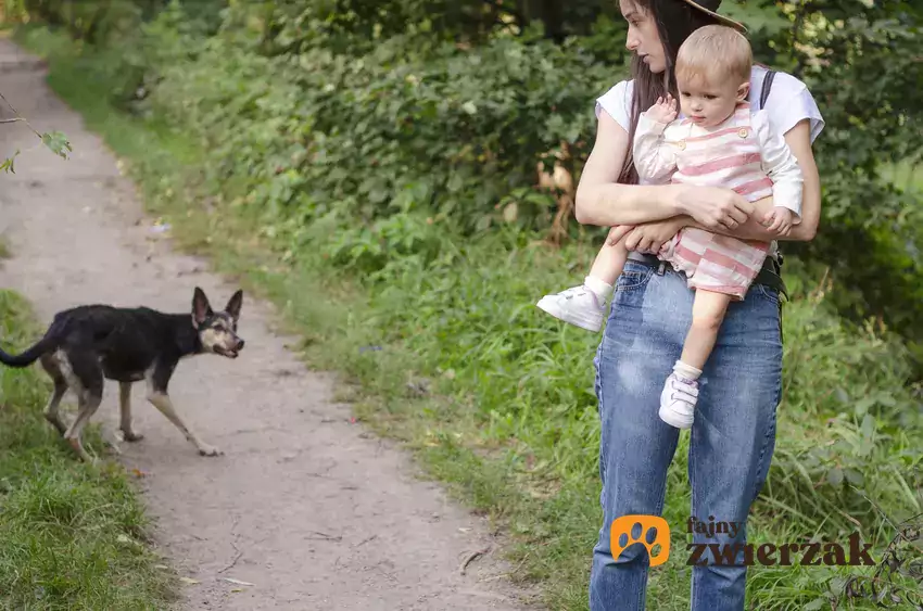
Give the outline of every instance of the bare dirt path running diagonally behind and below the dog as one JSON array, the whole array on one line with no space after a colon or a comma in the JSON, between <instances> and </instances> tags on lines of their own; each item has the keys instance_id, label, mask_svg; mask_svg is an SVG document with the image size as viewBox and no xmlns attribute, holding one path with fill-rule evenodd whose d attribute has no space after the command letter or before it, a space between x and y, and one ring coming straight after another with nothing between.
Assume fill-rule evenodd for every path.
<instances>
[{"instance_id":1,"label":"bare dirt path running diagonally behind and below the dog","mask_svg":"<svg viewBox=\"0 0 923 611\"><path fill-rule=\"evenodd\" d=\"M0 126L0 157L23 149L16 174L0 175L0 232L13 254L0 285L46 320L90 302L187 311L195 285L224 306L235 287L151 239L116 160L35 62L0 39L0 91L39 131L67 133L74 152L65 162L24 126ZM271 318L245 296L240 358L186 360L170 384L177 409L225 456L200 457L146 402L143 384L132 392L146 438L123 443L123 459L149 473L141 485L162 549L200 582L187 587L186 608L524 609L503 578L490 578L509 570L493 555L460 574L467 556L493 543L484 524L351 424L331 403L332 380L305 370ZM93 421L114 424L117 412L110 382ZM254 585L235 593L225 577Z\"/></svg>"}]
</instances>

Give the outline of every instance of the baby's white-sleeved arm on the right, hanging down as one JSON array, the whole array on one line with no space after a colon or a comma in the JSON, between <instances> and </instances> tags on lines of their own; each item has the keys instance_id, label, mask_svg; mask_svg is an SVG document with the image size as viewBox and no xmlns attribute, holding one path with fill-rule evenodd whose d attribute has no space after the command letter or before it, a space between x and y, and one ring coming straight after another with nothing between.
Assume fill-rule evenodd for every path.
<instances>
[{"instance_id":1,"label":"baby's white-sleeved arm on the right, hanging down","mask_svg":"<svg viewBox=\"0 0 923 611\"><path fill-rule=\"evenodd\" d=\"M772 200L777 208L792 211L792 224L801 222L801 191L805 178L798 160L785 140L769 125L764 111L754 114L753 125L760 142L762 168L772 179Z\"/></svg>"}]
</instances>

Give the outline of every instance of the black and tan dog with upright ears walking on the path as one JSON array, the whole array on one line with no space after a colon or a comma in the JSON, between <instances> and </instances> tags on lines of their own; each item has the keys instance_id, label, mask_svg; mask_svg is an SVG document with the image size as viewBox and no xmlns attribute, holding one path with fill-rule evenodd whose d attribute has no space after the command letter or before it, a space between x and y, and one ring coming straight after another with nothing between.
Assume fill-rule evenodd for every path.
<instances>
[{"instance_id":1,"label":"black and tan dog with upright ears walking on the path","mask_svg":"<svg viewBox=\"0 0 923 611\"><path fill-rule=\"evenodd\" d=\"M148 400L173 422L202 456L220 456L204 443L176 411L167 394L170 377L180 359L216 354L237 358L243 340L237 334L243 292L238 290L225 309L213 311L199 287L192 295L192 314L164 314L148 307L118 308L83 305L58 313L30 348L20 355L0 349L9 367L28 367L36 360L54 382L45 418L67 441L77 456L92 462L84 449L81 433L102 400L103 380L119 385L119 429L125 441L143 438L131 425L131 384L147 381ZM69 428L58 412L67 389L77 395L78 412Z\"/></svg>"}]
</instances>

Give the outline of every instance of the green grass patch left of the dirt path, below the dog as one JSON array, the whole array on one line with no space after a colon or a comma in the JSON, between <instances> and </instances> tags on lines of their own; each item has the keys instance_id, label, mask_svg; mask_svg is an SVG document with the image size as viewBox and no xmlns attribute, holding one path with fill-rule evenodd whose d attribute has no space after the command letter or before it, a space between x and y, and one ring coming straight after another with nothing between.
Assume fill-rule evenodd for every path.
<instances>
[{"instance_id":1,"label":"green grass patch left of the dirt path, below the dog","mask_svg":"<svg viewBox=\"0 0 923 611\"><path fill-rule=\"evenodd\" d=\"M0 290L5 345L40 333L27 302ZM0 608L165 609L172 573L124 470L76 462L42 418L50 383L37 368L0 369ZM90 447L101 448L98 430Z\"/></svg>"}]
</instances>

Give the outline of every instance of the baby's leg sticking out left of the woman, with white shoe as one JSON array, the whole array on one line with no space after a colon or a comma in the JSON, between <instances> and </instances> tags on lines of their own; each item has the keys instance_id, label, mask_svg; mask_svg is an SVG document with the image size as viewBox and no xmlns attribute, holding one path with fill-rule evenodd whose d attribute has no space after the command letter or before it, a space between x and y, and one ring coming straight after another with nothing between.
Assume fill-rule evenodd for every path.
<instances>
[{"instance_id":1,"label":"baby's leg sticking out left of the woman, with white shoe","mask_svg":"<svg viewBox=\"0 0 923 611\"><path fill-rule=\"evenodd\" d=\"M583 284L545 295L539 300L538 307L581 329L598 331L603 327L603 317L615 291L614 285L627 259L624 241L610 244L607 239L590 268L590 275L583 279Z\"/></svg>"}]
</instances>

